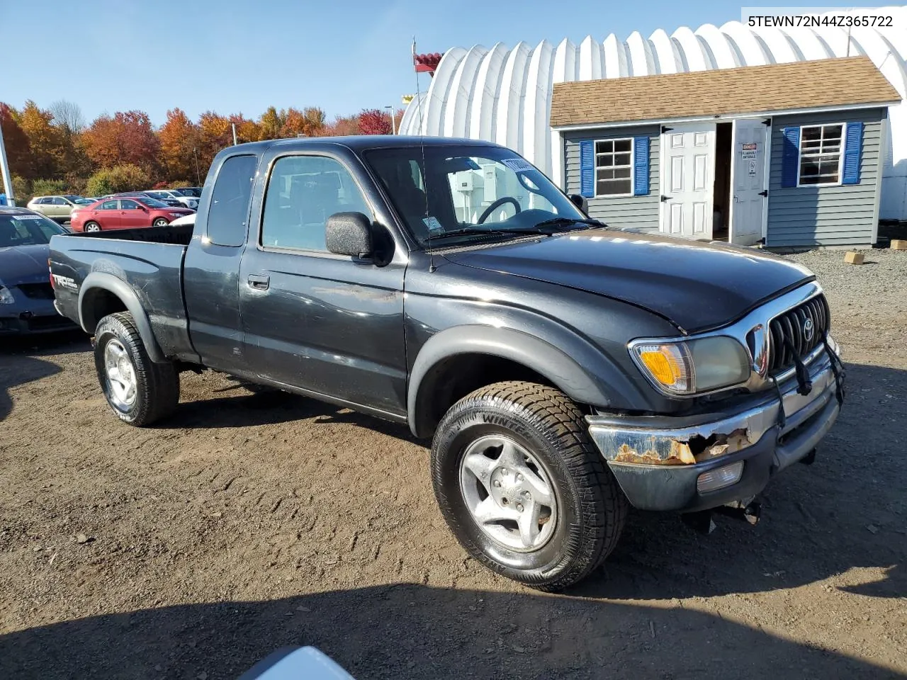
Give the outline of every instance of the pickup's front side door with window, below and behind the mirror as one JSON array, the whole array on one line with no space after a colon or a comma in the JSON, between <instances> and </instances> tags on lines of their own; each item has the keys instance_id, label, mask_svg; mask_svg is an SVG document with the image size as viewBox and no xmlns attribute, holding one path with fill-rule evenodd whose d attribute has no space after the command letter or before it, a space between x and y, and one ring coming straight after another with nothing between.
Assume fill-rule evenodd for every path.
<instances>
[{"instance_id":1,"label":"pickup's front side door with window, below and behind the mirror","mask_svg":"<svg viewBox=\"0 0 907 680\"><path fill-rule=\"evenodd\" d=\"M405 258L378 267L325 246L331 215L362 212L375 223L385 208L367 201L355 159L280 153L263 163L258 238L240 270L249 366L274 383L403 415Z\"/></svg>"}]
</instances>

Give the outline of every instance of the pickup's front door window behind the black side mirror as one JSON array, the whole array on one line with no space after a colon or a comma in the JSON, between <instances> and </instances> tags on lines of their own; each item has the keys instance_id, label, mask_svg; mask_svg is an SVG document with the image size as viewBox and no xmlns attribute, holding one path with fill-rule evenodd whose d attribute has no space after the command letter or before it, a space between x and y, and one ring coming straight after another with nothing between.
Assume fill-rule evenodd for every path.
<instances>
[{"instance_id":1,"label":"pickup's front door window behind the black side mirror","mask_svg":"<svg viewBox=\"0 0 907 680\"><path fill-rule=\"evenodd\" d=\"M349 170L324 156L284 156L265 194L261 245L327 252L325 223L337 212L375 219Z\"/></svg>"}]
</instances>

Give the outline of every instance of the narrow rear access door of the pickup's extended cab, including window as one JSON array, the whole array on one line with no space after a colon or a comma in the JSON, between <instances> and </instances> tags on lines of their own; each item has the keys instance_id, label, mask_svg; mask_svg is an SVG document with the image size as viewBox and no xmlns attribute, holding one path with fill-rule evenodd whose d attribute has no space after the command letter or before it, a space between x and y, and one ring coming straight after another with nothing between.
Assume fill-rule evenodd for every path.
<instances>
[{"instance_id":1,"label":"narrow rear access door of the pickup's extended cab, including window","mask_svg":"<svg viewBox=\"0 0 907 680\"><path fill-rule=\"evenodd\" d=\"M211 169L183 264L189 335L202 364L243 374L239 261L246 246L249 198L258 156L229 156Z\"/></svg>"}]
</instances>

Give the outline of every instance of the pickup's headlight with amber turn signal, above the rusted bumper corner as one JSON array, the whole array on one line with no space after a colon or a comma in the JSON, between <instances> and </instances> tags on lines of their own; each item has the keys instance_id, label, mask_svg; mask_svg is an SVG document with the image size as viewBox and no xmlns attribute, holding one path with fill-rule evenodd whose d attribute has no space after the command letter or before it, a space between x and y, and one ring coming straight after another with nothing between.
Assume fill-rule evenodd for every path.
<instances>
[{"instance_id":1,"label":"pickup's headlight with amber turn signal, above the rusted bumper corner","mask_svg":"<svg viewBox=\"0 0 907 680\"><path fill-rule=\"evenodd\" d=\"M727 335L678 342L637 340L629 349L643 374L671 394L712 392L746 383L751 372L746 349Z\"/></svg>"}]
</instances>

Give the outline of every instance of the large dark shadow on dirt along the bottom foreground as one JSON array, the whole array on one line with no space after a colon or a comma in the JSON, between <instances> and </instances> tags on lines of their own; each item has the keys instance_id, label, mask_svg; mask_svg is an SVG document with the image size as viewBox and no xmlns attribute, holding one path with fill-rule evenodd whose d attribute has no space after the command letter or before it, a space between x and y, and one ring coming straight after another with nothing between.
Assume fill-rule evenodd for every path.
<instances>
[{"instance_id":1,"label":"large dark shadow on dirt along the bottom foreground","mask_svg":"<svg viewBox=\"0 0 907 680\"><path fill-rule=\"evenodd\" d=\"M356 678L883 678L886 669L677 608L396 585L83 618L0 636L0 676L232 678L315 645Z\"/></svg>"}]
</instances>

